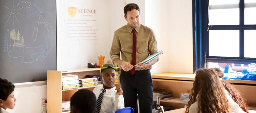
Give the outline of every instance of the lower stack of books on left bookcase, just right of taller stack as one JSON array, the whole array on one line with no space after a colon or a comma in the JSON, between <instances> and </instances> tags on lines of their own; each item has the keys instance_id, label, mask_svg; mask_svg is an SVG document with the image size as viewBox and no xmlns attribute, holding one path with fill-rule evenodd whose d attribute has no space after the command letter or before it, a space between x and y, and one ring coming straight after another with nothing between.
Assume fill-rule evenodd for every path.
<instances>
[{"instance_id":1,"label":"lower stack of books on left bookcase, just right of taller stack","mask_svg":"<svg viewBox=\"0 0 256 113\"><path fill-rule=\"evenodd\" d=\"M79 79L80 87L88 87L98 85L97 77Z\"/></svg>"}]
</instances>

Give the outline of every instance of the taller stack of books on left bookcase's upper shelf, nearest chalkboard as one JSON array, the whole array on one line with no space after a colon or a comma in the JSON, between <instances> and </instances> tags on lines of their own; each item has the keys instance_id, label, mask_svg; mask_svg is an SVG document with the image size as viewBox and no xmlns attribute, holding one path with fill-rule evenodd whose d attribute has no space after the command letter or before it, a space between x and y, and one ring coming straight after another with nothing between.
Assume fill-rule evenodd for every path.
<instances>
[{"instance_id":1,"label":"taller stack of books on left bookcase's upper shelf, nearest chalkboard","mask_svg":"<svg viewBox=\"0 0 256 113\"><path fill-rule=\"evenodd\" d=\"M77 74L62 75L62 90L79 88Z\"/></svg>"}]
</instances>

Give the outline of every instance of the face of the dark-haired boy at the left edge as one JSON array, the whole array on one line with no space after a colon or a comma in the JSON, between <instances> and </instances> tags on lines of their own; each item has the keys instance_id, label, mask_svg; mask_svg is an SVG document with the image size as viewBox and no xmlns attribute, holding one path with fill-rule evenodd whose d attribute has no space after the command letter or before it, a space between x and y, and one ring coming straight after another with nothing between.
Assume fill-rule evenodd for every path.
<instances>
[{"instance_id":1,"label":"face of the dark-haired boy at the left edge","mask_svg":"<svg viewBox=\"0 0 256 113\"><path fill-rule=\"evenodd\" d=\"M16 101L16 98L14 97L14 92L12 92L8 97L7 99L4 101L4 100L0 100L0 105L3 109L13 109L14 106L15 106L15 101Z\"/></svg>"}]
</instances>

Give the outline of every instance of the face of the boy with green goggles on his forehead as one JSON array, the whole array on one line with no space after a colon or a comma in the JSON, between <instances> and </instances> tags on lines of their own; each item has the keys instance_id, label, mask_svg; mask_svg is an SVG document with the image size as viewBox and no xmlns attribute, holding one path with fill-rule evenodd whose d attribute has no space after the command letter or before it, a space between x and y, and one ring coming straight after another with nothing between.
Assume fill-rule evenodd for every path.
<instances>
[{"instance_id":1,"label":"face of the boy with green goggles on his forehead","mask_svg":"<svg viewBox=\"0 0 256 113\"><path fill-rule=\"evenodd\" d=\"M108 68L101 71L100 79L102 80L103 88L112 88L116 82L115 69Z\"/></svg>"}]
</instances>

